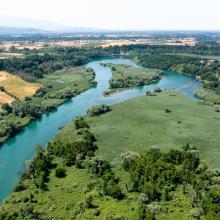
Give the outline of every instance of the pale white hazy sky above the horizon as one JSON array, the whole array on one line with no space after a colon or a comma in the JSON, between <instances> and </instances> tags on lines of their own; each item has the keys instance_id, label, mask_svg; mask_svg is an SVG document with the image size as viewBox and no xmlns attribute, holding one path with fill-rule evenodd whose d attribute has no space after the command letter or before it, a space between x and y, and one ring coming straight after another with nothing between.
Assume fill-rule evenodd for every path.
<instances>
[{"instance_id":1,"label":"pale white hazy sky above the horizon","mask_svg":"<svg viewBox=\"0 0 220 220\"><path fill-rule=\"evenodd\" d=\"M220 30L220 0L0 1L0 21L13 16L114 30ZM22 23L16 18L10 26Z\"/></svg>"}]
</instances>

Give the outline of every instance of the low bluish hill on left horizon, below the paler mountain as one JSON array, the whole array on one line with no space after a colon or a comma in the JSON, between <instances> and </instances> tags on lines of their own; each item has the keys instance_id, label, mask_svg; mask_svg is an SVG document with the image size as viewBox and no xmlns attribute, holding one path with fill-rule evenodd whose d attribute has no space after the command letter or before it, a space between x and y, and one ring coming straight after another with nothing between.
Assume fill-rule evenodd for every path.
<instances>
[{"instance_id":1,"label":"low bluish hill on left horizon, below the paler mountain","mask_svg":"<svg viewBox=\"0 0 220 220\"><path fill-rule=\"evenodd\" d=\"M0 26L0 35L11 35L11 34L44 34L49 33L48 31L35 29L35 28L17 28L17 27L5 27Z\"/></svg>"}]
</instances>

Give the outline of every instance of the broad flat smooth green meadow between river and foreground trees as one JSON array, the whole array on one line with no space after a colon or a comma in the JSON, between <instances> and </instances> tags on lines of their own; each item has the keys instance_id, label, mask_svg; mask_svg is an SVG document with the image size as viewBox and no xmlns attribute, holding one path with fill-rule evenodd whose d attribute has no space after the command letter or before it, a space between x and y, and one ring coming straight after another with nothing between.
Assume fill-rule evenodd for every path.
<instances>
[{"instance_id":1,"label":"broad flat smooth green meadow between river and foreground trees","mask_svg":"<svg viewBox=\"0 0 220 220\"><path fill-rule=\"evenodd\" d=\"M129 150L143 152L158 146L167 151L189 143L200 150L202 159L211 166L220 167L220 113L183 94L170 94L129 100L114 105L105 115L89 118L99 153L117 160ZM172 112L165 113L165 108Z\"/></svg>"}]
</instances>

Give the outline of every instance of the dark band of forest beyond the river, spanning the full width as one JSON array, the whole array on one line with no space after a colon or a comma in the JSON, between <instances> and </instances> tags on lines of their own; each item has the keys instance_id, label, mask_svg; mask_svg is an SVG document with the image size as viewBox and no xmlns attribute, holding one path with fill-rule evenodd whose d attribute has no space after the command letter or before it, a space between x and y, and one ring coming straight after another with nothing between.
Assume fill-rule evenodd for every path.
<instances>
[{"instance_id":1,"label":"dark band of forest beyond the river, spanning the full width","mask_svg":"<svg viewBox=\"0 0 220 220\"><path fill-rule=\"evenodd\" d=\"M125 45L109 48L77 48L52 47L32 52L25 58L12 58L0 60L0 70L19 74L29 81L42 78L45 74L63 69L68 66L79 66L91 60L109 57L111 55L129 54L164 54L164 53L193 53L200 55L220 55L218 44L203 43L195 47L172 45ZM191 58L192 59L192 58Z\"/></svg>"}]
</instances>

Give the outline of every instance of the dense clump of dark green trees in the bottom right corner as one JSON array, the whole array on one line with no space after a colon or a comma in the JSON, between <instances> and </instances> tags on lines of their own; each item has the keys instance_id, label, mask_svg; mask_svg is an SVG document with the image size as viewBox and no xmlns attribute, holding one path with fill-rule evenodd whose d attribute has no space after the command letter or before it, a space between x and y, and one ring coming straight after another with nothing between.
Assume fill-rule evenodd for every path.
<instances>
[{"instance_id":1,"label":"dense clump of dark green trees in the bottom right corner","mask_svg":"<svg viewBox=\"0 0 220 220\"><path fill-rule=\"evenodd\" d=\"M138 192L139 218L155 219L152 202L171 201L172 192L182 187L190 198L189 215L200 219L217 219L220 214L219 173L201 162L199 152L188 144L183 150L167 153L152 148L144 154L127 152L122 166L130 174L129 192Z\"/></svg>"}]
</instances>

